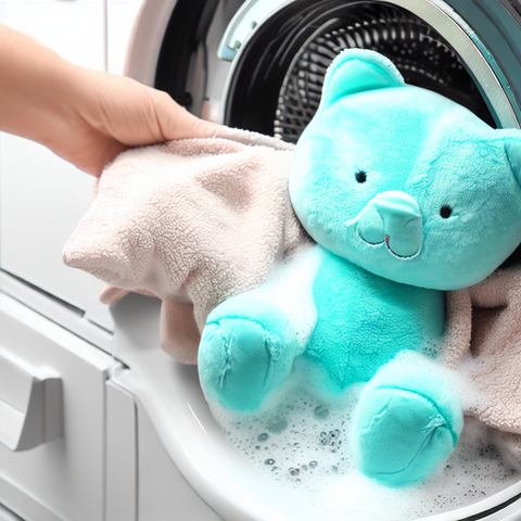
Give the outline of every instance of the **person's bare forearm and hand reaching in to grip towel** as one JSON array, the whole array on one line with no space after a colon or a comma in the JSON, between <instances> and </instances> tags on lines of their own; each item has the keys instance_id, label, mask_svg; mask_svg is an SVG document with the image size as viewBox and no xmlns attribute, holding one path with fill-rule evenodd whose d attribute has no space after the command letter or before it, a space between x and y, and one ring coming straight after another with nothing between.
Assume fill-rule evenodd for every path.
<instances>
[{"instance_id":1,"label":"person's bare forearm and hand reaching in to grip towel","mask_svg":"<svg viewBox=\"0 0 521 521\"><path fill-rule=\"evenodd\" d=\"M77 66L0 24L0 130L31 139L99 176L131 147L214 136L167 93Z\"/></svg>"}]
</instances>

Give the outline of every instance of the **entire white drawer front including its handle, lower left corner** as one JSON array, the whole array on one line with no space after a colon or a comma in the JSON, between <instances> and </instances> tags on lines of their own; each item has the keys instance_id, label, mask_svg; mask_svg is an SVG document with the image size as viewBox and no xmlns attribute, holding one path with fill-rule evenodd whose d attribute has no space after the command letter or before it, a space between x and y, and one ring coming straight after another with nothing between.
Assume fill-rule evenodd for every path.
<instances>
[{"instance_id":1,"label":"entire white drawer front including its handle, lower left corner","mask_svg":"<svg viewBox=\"0 0 521 521\"><path fill-rule=\"evenodd\" d=\"M102 520L111 356L0 292L0 504Z\"/></svg>"}]
</instances>

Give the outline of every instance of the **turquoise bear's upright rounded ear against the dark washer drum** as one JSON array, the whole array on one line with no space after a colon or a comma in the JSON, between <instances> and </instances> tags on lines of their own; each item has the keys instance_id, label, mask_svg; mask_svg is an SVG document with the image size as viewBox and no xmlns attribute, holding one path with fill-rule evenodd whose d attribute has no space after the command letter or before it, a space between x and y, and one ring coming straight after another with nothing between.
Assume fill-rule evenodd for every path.
<instances>
[{"instance_id":1,"label":"turquoise bear's upright rounded ear against the dark washer drum","mask_svg":"<svg viewBox=\"0 0 521 521\"><path fill-rule=\"evenodd\" d=\"M347 49L331 63L322 87L321 107L350 94L404 86L404 78L391 60L367 49Z\"/></svg>"}]
</instances>

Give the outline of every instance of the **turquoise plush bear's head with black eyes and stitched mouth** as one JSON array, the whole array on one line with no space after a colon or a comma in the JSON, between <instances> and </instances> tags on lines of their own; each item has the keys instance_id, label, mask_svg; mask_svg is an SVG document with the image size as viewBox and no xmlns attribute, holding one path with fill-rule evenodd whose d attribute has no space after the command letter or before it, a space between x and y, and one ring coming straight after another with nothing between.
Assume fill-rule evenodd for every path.
<instances>
[{"instance_id":1,"label":"turquoise plush bear's head with black eyes and stitched mouth","mask_svg":"<svg viewBox=\"0 0 521 521\"><path fill-rule=\"evenodd\" d=\"M384 56L344 51L302 135L290 195L323 247L423 288L471 285L521 242L521 132L406 85Z\"/></svg>"}]
</instances>

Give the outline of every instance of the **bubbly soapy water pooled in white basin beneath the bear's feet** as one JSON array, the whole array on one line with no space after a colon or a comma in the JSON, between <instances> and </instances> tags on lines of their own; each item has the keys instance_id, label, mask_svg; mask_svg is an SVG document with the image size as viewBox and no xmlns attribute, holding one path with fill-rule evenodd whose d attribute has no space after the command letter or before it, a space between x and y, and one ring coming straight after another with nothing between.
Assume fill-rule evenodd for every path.
<instances>
[{"instance_id":1,"label":"bubbly soapy water pooled in white basin beneath the bear's feet","mask_svg":"<svg viewBox=\"0 0 521 521\"><path fill-rule=\"evenodd\" d=\"M289 384L255 414L211 407L252 465L332 520L414 520L476 503L520 480L499 457L492 429L473 418L466 418L456 449L424 481L395 488L366 478L350 443L363 386L326 401L308 385Z\"/></svg>"}]
</instances>

